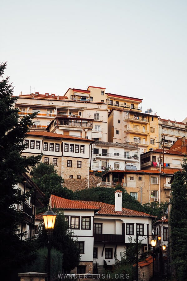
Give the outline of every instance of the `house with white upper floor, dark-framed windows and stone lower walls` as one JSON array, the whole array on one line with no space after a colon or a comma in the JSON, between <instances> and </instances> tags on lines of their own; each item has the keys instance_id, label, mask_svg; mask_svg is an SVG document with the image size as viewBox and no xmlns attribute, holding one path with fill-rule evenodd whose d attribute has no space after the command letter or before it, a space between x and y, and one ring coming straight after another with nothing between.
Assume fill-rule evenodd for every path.
<instances>
[{"instance_id":1,"label":"house with white upper floor, dark-framed windows and stone lower walls","mask_svg":"<svg viewBox=\"0 0 187 281\"><path fill-rule=\"evenodd\" d=\"M72 190L89 187L89 153L93 141L45 131L30 131L22 157L42 154L41 161L53 164L64 185ZM72 182L72 180L76 180Z\"/></svg>"}]
</instances>

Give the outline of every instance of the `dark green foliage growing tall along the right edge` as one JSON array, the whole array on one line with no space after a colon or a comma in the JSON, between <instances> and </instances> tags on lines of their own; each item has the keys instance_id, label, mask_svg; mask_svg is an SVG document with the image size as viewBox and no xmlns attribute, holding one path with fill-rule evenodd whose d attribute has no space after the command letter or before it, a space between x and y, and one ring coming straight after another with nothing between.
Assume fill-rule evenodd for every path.
<instances>
[{"instance_id":1,"label":"dark green foliage growing tall along the right edge","mask_svg":"<svg viewBox=\"0 0 187 281\"><path fill-rule=\"evenodd\" d=\"M171 184L172 208L170 212L170 238L172 262L177 280L186 280L187 276L187 159L182 165L183 172L174 175Z\"/></svg>"}]
</instances>

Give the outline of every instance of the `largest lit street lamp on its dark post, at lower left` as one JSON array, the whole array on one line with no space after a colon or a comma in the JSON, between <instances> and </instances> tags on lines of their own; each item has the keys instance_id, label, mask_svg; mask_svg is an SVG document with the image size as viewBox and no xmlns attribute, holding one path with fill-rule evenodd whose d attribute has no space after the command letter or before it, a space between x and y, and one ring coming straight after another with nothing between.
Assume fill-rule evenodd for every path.
<instances>
[{"instance_id":1,"label":"largest lit street lamp on its dark post, at lower left","mask_svg":"<svg viewBox=\"0 0 187 281\"><path fill-rule=\"evenodd\" d=\"M51 248L51 234L55 226L56 214L52 210L48 210L43 214L43 221L47 229L48 238L48 255L47 255L47 280L50 281L50 248Z\"/></svg>"}]
</instances>

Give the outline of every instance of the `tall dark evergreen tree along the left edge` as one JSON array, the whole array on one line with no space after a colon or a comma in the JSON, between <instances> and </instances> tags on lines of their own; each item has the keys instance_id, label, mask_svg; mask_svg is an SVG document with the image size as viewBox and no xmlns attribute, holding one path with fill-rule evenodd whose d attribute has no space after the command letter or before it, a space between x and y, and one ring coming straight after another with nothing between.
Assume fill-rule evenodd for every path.
<instances>
[{"instance_id":1,"label":"tall dark evergreen tree along the left edge","mask_svg":"<svg viewBox=\"0 0 187 281\"><path fill-rule=\"evenodd\" d=\"M14 187L40 156L21 157L25 148L23 142L35 114L19 117L14 108L17 97L13 96L12 84L9 84L9 77L3 79L6 66L6 62L0 63L0 264L1 278L2 274L7 274L4 280L11 280L11 272L25 260L22 257L23 242L16 234L22 218L14 207L23 201L23 197Z\"/></svg>"}]
</instances>

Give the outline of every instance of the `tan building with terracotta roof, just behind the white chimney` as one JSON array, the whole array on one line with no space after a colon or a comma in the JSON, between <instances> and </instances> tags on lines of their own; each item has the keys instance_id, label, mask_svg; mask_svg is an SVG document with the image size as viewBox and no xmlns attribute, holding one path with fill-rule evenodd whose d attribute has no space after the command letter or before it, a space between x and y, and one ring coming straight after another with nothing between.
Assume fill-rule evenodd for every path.
<instances>
[{"instance_id":1,"label":"tan building with terracotta roof, just behind the white chimney","mask_svg":"<svg viewBox=\"0 0 187 281\"><path fill-rule=\"evenodd\" d=\"M179 169L158 170L109 170L98 186L121 185L141 204L170 200L171 183Z\"/></svg>"}]
</instances>

